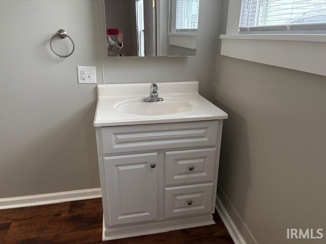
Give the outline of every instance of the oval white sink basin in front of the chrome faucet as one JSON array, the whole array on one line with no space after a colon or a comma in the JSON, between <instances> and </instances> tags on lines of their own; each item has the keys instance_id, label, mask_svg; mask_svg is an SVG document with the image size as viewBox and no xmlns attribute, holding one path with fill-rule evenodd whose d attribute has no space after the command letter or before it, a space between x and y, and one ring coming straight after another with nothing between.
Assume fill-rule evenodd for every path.
<instances>
[{"instance_id":1,"label":"oval white sink basin in front of the chrome faucet","mask_svg":"<svg viewBox=\"0 0 326 244\"><path fill-rule=\"evenodd\" d=\"M115 109L138 115L166 115L184 113L194 108L191 101L164 98L161 102L143 102L142 98L119 102Z\"/></svg>"}]
</instances>

